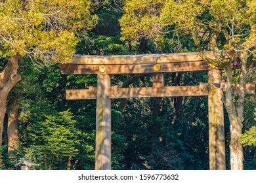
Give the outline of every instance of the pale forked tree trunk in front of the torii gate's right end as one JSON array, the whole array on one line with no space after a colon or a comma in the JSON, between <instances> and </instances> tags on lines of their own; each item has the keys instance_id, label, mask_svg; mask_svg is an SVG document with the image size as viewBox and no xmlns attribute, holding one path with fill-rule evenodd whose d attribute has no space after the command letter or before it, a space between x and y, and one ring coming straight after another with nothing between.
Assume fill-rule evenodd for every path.
<instances>
[{"instance_id":1,"label":"pale forked tree trunk in front of the torii gate's right end","mask_svg":"<svg viewBox=\"0 0 256 183\"><path fill-rule=\"evenodd\" d=\"M244 169L244 152L242 145L239 142L239 138L240 135L242 135L242 123L244 121L243 114L245 78L247 73L247 51L241 52L239 58L241 60L242 67L239 77L239 94L236 100L236 105L233 103L231 66L228 65L224 68L226 73L226 83L224 88L224 105L228 112L228 118L230 121L230 165L232 170Z\"/></svg>"}]
</instances>

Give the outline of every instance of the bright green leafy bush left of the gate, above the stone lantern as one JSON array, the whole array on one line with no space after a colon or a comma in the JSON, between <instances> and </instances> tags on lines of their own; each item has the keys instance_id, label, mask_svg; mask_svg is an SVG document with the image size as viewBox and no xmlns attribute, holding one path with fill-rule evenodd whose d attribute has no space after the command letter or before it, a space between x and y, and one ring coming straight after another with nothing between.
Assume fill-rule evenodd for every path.
<instances>
[{"instance_id":1,"label":"bright green leafy bush left of the gate, above the stone lantern","mask_svg":"<svg viewBox=\"0 0 256 183\"><path fill-rule=\"evenodd\" d=\"M75 129L75 123L77 122L72 120L72 113L68 110L59 112L55 116L46 116L44 122L33 123L28 134L33 143L26 148L25 156L29 157L29 152L32 151L37 158L44 158L43 165L43 162L36 161L39 167L65 169L67 165L60 164L61 161L58 159L68 159L69 156L74 157L79 152L76 146L81 141L78 139L81 131Z\"/></svg>"}]
</instances>

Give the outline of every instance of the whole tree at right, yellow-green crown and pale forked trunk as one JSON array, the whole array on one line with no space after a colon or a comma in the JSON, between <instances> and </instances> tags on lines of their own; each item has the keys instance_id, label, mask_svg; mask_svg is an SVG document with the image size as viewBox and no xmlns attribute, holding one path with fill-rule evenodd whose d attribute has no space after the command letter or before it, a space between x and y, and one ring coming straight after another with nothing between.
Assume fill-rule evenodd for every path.
<instances>
[{"instance_id":1,"label":"whole tree at right, yellow-green crown and pale forked trunk","mask_svg":"<svg viewBox=\"0 0 256 183\"><path fill-rule=\"evenodd\" d=\"M123 39L148 37L158 39L161 33L175 31L191 37L200 56L210 67L223 69L223 103L230 121L231 169L243 169L242 134L245 79L248 54L255 55L256 3L252 0L213 1L127 1L120 20ZM215 59L207 58L204 50L211 50ZM226 59L227 52L232 58ZM232 69L239 69L234 79ZM239 93L234 95L233 85ZM234 101L235 99L235 101Z\"/></svg>"}]
</instances>

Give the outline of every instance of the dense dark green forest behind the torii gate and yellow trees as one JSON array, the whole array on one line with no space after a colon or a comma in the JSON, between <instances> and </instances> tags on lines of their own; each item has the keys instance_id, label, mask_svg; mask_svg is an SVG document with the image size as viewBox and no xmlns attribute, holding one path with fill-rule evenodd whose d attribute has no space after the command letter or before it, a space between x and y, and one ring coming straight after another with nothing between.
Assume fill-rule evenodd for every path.
<instances>
[{"instance_id":1,"label":"dense dark green forest behind the torii gate and yellow trees","mask_svg":"<svg viewBox=\"0 0 256 183\"><path fill-rule=\"evenodd\" d=\"M96 1L95 1L96 2ZM98 23L80 39L76 54L125 55L197 52L184 34L121 41L123 1L97 1ZM251 58L252 59L252 58ZM5 65L5 59L1 59ZM0 169L15 169L21 158L36 169L94 169L96 101L67 101L66 89L96 86L96 75L61 75L58 64L20 65L22 81L8 98ZM234 79L239 69L232 71ZM247 82L255 83L255 70ZM111 75L112 85L152 86L152 75ZM199 85L207 72L167 73L166 86ZM256 125L256 95L246 95L243 132ZM209 169L207 97L112 100L112 169ZM9 116L18 125L17 145L8 150ZM230 169L230 124L224 110L226 167ZM256 169L256 148L244 138L244 169ZM255 145L255 144L254 144Z\"/></svg>"}]
</instances>

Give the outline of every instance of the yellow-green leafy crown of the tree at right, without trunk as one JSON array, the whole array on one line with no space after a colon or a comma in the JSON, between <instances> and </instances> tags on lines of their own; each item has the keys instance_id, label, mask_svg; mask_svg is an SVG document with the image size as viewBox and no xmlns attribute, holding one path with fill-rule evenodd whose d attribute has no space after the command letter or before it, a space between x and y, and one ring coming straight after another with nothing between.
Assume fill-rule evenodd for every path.
<instances>
[{"instance_id":1,"label":"yellow-green leafy crown of the tree at right, without trunk","mask_svg":"<svg viewBox=\"0 0 256 183\"><path fill-rule=\"evenodd\" d=\"M253 0L128 0L124 10L120 20L123 40L152 39L166 29L182 29L194 32L198 42L210 42L210 50L256 46L256 1ZM223 44L213 45L221 36L224 36Z\"/></svg>"}]
</instances>

